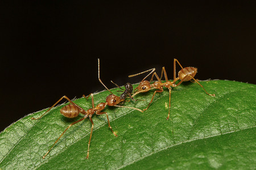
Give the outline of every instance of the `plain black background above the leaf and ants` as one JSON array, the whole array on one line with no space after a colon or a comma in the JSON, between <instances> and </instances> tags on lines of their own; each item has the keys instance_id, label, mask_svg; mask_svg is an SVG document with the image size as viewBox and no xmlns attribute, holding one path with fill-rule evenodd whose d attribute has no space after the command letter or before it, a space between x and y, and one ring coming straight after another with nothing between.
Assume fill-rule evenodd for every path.
<instances>
[{"instance_id":1,"label":"plain black background above the leaf and ants","mask_svg":"<svg viewBox=\"0 0 256 170\"><path fill-rule=\"evenodd\" d=\"M152 67L172 79L174 58L201 80L255 83L256 6L230 2L1 1L0 131L63 95L104 90L97 58L109 88Z\"/></svg>"}]
</instances>

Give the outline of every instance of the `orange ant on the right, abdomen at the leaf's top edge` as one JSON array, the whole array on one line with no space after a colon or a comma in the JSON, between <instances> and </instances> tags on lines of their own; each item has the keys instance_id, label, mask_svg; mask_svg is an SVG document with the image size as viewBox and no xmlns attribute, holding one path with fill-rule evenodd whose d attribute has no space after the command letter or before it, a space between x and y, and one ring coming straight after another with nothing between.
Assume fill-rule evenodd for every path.
<instances>
[{"instance_id":1,"label":"orange ant on the right, abdomen at the leaf's top edge","mask_svg":"<svg viewBox=\"0 0 256 170\"><path fill-rule=\"evenodd\" d=\"M147 76L149 76L150 74L148 74L142 81L141 83L139 83L139 86L137 88L134 89L134 94L131 96L131 97L134 97L135 95L141 93L141 92L147 92L151 89L157 89L153 96L152 96L152 99L150 101L150 103L148 104L147 108L146 109L143 109L143 111L146 111L148 109L148 107L150 106L150 104L152 103L152 100L156 94L156 92L163 92L163 87L166 87L168 88L169 90L169 112L168 112L168 116L166 118L166 120L169 120L169 117L170 117L170 108L171 108L171 90L172 88L171 87L177 87L179 86L182 82L187 82L187 81L191 81L192 82L192 79L197 83L199 84L201 87L203 87L195 78L194 76L196 75L197 73L197 69L195 67L185 67L183 68L181 65L181 70L179 71L178 73L178 76L176 77L176 62L180 65L179 61L177 61L177 59L174 59L174 81L170 82L167 78L167 73L166 73L166 69L164 67L162 67L162 72L161 72L161 76L159 78L159 76L154 72L155 71L155 68L153 69L150 69L150 70L146 70L146 71L143 71L142 73L138 73L138 74L133 74L133 75L129 75L129 77L132 77L132 76L136 76L136 75L139 75L139 74L143 74L143 73L146 73L148 71L151 71L150 74L152 74L154 72L154 74L152 74L151 76L151 79L150 79L150 82L152 81L152 79L154 78L154 75L156 76L156 79L158 79L158 81L150 84L150 82L148 82L148 80L144 80L147 78ZM162 83L161 79L162 79L162 76L163 76L163 73L164 73L164 78L166 79L166 82ZM177 80L180 80L179 83L175 84L175 82ZM203 87L204 89L204 87ZM204 91L207 93L207 95L210 95L210 96L215 96L214 94L209 94L205 89Z\"/></svg>"}]
</instances>

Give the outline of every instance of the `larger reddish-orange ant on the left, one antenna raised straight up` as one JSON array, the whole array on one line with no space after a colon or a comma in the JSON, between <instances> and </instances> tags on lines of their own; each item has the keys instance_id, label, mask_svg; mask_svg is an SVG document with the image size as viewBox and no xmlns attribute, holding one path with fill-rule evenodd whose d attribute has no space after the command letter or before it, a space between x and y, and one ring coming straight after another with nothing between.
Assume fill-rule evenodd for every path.
<instances>
[{"instance_id":1,"label":"larger reddish-orange ant on the left, one antenna raised straight up","mask_svg":"<svg viewBox=\"0 0 256 170\"><path fill-rule=\"evenodd\" d=\"M108 124L109 124L109 128L112 131L112 133L115 135L115 137L117 137L117 134L114 133L114 131L112 130L112 127L110 126L110 122L109 122L109 117L108 117L108 113L106 112L101 112L103 109L105 109L106 105L108 106L114 106L114 107L123 107L123 108L130 108L130 109L135 109L137 111L143 112L141 109L137 109L137 108L133 108L133 107L125 107L125 106L121 106L121 105L117 105L119 103L122 103L123 101L125 101L126 95L129 94L128 92L125 92L125 94L122 94L121 97L115 96L106 86L104 83L102 83L101 79L100 79L100 59L98 59L98 80L101 82L101 84L111 93L109 96L106 97L106 102L105 103L100 103L98 105L96 105L96 107L94 107L94 99L93 99L93 94L89 94L88 96L83 95L83 97L85 97L86 99L88 99L89 96L92 96L92 108L88 109L87 111L85 111L83 108L81 108L79 105L73 103L73 101L71 101L67 96L63 96L61 97L55 104L52 105L51 108L49 108L45 113L42 114L42 116L40 116L39 118L42 118L44 116L44 114L46 114L47 112L49 112L57 103L59 103L63 98L67 99L69 101L70 104L65 105L63 108L60 109L60 113L63 114L63 116L68 117L68 118L73 118L73 117L77 117L79 115L79 113L85 114L85 116L83 118L81 118L80 120L77 120L75 122L73 122L72 124L70 124L68 126L68 128L66 128L63 133L60 135L60 137L55 141L55 143L52 145L55 146L55 144L57 143L57 141L59 141L59 139L61 138L61 136L65 133L65 131L67 131L72 125L77 124L78 122L84 120L85 118L89 117L90 122L92 123L92 128L90 130L90 138L89 138L89 143L88 143L88 151L87 151L87 156L86 159L89 158L89 147L90 147L90 139L92 138L92 132L93 132L93 120L92 120L92 116L94 113L96 113L97 115L101 115L101 114L106 114L106 117L108 119ZM129 87L132 88L132 87ZM131 90L133 91L133 90ZM38 120L39 118L34 118L32 117L32 120ZM43 159L46 158L47 154L49 153L49 151L51 151L52 147L48 150L48 152L43 156Z\"/></svg>"}]
</instances>

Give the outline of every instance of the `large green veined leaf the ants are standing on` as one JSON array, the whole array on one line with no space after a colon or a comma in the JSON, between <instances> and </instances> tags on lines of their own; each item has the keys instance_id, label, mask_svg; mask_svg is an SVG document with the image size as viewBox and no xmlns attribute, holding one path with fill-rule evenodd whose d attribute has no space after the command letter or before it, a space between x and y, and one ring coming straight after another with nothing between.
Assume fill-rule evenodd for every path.
<instances>
[{"instance_id":1,"label":"large green veined leaf the ants are standing on","mask_svg":"<svg viewBox=\"0 0 256 170\"><path fill-rule=\"evenodd\" d=\"M108 128L105 115L94 115L89 159L85 159L91 127L88 118L72 126L42 159L65 128L82 116L63 117L59 113L63 105L40 120L31 117L39 117L46 109L30 114L0 134L0 168L255 169L256 86L228 80L200 83L216 97L205 94L196 83L182 83L172 89L169 121L166 88L155 95L144 113L106 108L118 137ZM153 92L139 94L135 99L142 100L125 105L144 109ZM108 95L108 91L94 95L95 104ZM92 107L89 99L75 103Z\"/></svg>"}]
</instances>

